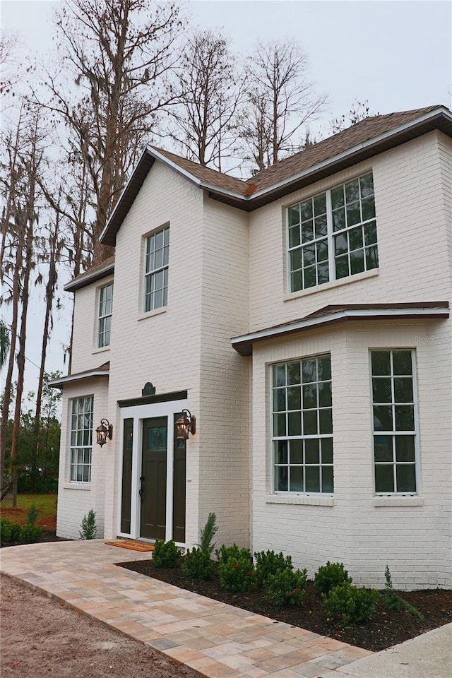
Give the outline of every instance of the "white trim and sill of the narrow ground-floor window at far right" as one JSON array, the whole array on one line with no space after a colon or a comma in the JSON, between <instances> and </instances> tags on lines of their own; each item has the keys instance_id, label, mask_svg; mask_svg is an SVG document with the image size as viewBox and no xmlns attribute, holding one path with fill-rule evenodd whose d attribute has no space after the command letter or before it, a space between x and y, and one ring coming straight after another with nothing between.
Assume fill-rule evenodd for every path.
<instances>
[{"instance_id":1,"label":"white trim and sill of the narrow ground-floor window at far right","mask_svg":"<svg viewBox=\"0 0 452 678\"><path fill-rule=\"evenodd\" d=\"M374 457L374 394L372 390L372 351L410 351L412 365L412 390L414 399L415 420L415 474L416 492L377 492L375 487L375 457ZM410 346L378 346L369 348L369 386L370 386L370 415L371 415L371 470L372 487L374 491L374 506L423 506L421 492L421 469L420 469L420 429L419 429L419 397L417 388L417 352ZM391 432L389 434L393 435ZM411 501L410 501L411 500ZM416 500L416 501L415 501ZM417 501L419 500L419 501ZM414 503L412 503L414 502ZM422 503L420 503L422 502Z\"/></svg>"}]
</instances>

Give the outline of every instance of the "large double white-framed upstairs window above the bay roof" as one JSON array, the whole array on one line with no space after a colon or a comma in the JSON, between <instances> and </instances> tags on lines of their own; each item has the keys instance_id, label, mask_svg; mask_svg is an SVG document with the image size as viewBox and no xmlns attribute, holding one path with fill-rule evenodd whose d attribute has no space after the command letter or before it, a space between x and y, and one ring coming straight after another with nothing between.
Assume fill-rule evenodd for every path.
<instances>
[{"instance_id":1,"label":"large double white-framed upstairs window above the bay roof","mask_svg":"<svg viewBox=\"0 0 452 678\"><path fill-rule=\"evenodd\" d=\"M374 179L357 179L287 209L290 292L377 268Z\"/></svg>"}]
</instances>

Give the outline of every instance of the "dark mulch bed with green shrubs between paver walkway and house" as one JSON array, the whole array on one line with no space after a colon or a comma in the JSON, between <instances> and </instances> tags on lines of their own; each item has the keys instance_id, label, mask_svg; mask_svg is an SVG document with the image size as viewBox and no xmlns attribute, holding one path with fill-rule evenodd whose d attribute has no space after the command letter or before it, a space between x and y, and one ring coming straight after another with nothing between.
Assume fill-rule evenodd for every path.
<instances>
[{"instance_id":1,"label":"dark mulch bed with green shrubs between paver walkway and house","mask_svg":"<svg viewBox=\"0 0 452 678\"><path fill-rule=\"evenodd\" d=\"M405 609L399 612L387 612L383 601L379 599L376 602L374 616L369 622L356 626L343 626L340 622L328 619L321 597L310 581L307 584L307 594L299 607L275 607L266 600L262 589L246 594L222 590L217 576L213 576L208 581L192 580L184 577L178 568L157 569L152 561L134 561L120 565L179 588L367 650L383 650L424 634L437 626L452 622L452 590L398 592L403 600L413 605L423 615L425 622L420 621Z\"/></svg>"}]
</instances>

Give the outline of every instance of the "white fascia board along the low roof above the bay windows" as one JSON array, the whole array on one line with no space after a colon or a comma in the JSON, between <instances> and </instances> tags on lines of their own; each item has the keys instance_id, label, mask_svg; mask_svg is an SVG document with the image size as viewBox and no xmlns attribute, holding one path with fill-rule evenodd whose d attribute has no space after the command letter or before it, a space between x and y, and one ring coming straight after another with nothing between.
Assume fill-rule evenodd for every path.
<instances>
[{"instance_id":1,"label":"white fascia board along the low roof above the bay windows","mask_svg":"<svg viewBox=\"0 0 452 678\"><path fill-rule=\"evenodd\" d=\"M333 313L328 313L324 316L308 318L295 323L287 323L287 325L281 325L278 327L253 332L251 334L244 334L240 337L234 337L231 339L231 343L234 346L234 344L239 344L244 341L254 341L256 339L264 338L270 339L277 337L280 334L285 334L286 332L304 330L309 327L315 327L316 325L323 325L325 323L332 323L334 321L343 319L362 319L363 317L375 318L379 316L386 316L386 318L387 316L391 316L391 318L397 319L405 318L406 316L429 316L432 315L432 313L448 318L449 309L446 307L417 307L412 309L347 309L344 311L333 311Z\"/></svg>"}]
</instances>

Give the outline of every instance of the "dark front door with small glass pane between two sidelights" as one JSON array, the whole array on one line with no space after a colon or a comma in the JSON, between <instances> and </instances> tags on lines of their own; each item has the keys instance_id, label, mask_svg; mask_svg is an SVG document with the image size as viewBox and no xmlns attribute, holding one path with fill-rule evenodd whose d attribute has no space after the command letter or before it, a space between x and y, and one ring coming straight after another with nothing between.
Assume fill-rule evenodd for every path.
<instances>
[{"instance_id":1,"label":"dark front door with small glass pane between two sidelights","mask_svg":"<svg viewBox=\"0 0 452 678\"><path fill-rule=\"evenodd\" d=\"M167 501L167 417L143 421L141 537L165 539Z\"/></svg>"}]
</instances>

